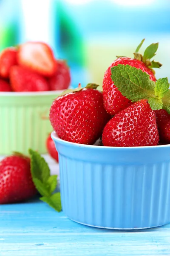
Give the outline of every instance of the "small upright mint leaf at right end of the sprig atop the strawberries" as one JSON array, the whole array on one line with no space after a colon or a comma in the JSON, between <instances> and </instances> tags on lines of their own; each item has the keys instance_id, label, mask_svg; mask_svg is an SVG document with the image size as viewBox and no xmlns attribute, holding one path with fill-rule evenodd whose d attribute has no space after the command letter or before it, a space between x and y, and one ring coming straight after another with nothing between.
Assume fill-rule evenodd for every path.
<instances>
[{"instance_id":1,"label":"small upright mint leaf at right end of the sprig atop the strawberries","mask_svg":"<svg viewBox=\"0 0 170 256\"><path fill-rule=\"evenodd\" d=\"M168 89L169 83L167 77L158 79L155 86L155 96L158 96L158 98L161 99L164 94L168 92Z\"/></svg>"}]
</instances>

